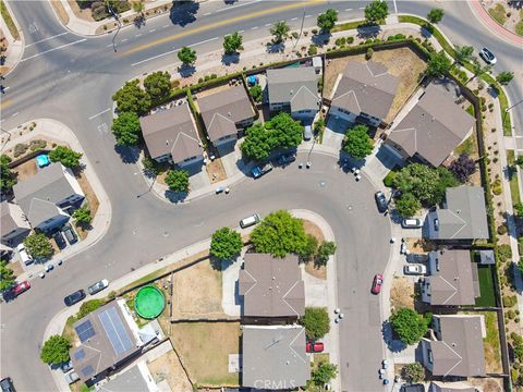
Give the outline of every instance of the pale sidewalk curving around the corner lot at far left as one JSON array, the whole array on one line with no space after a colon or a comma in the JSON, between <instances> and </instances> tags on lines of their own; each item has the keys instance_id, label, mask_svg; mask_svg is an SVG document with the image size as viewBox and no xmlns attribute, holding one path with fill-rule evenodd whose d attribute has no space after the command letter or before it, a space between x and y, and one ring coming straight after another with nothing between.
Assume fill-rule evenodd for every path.
<instances>
[{"instance_id":1,"label":"pale sidewalk curving around the corner lot at far left","mask_svg":"<svg viewBox=\"0 0 523 392\"><path fill-rule=\"evenodd\" d=\"M111 204L110 204L109 197L107 196L106 191L104 189L104 186L100 183L100 180L98 179L98 176L96 175L93 169L94 168L93 164L89 162L88 158L84 154L82 145L80 144L74 133L64 124L51 119L36 119L36 120L28 121L22 124L21 126L24 126L32 122L37 123L37 126L34 128L34 131L28 132L22 136L12 137L5 144L4 149L14 147L14 145L19 143L24 143L28 139L37 138L38 135L65 142L66 144L69 144L69 146L73 150L83 154L82 163L85 164L84 173L90 186L93 187L93 191L95 192L96 197L98 198L99 206L98 206L96 216L94 217L92 222L93 229L89 231L85 240L80 241L74 245L68 246L64 250L60 252L59 254L56 254L46 264L38 264L38 265L34 264L29 266L28 271L22 273L19 277L19 280L21 281L31 280L38 277L38 273L44 271L45 265L48 265L48 264L54 265L58 260L65 261L68 258L71 258L80 254L81 252L88 249L90 246L95 245L104 236L111 221ZM14 132L16 132L16 130L17 128L11 130L9 131L9 133L13 134Z\"/></svg>"}]
</instances>

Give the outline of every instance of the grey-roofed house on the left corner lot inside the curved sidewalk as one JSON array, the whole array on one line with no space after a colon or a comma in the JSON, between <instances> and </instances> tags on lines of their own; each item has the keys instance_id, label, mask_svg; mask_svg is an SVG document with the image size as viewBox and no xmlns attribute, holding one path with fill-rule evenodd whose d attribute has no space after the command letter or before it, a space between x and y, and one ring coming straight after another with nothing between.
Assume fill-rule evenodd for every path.
<instances>
[{"instance_id":1,"label":"grey-roofed house on the left corner lot inside the curved sidewalk","mask_svg":"<svg viewBox=\"0 0 523 392\"><path fill-rule=\"evenodd\" d=\"M33 229L60 226L85 196L71 169L52 163L13 186L16 204Z\"/></svg>"}]
</instances>

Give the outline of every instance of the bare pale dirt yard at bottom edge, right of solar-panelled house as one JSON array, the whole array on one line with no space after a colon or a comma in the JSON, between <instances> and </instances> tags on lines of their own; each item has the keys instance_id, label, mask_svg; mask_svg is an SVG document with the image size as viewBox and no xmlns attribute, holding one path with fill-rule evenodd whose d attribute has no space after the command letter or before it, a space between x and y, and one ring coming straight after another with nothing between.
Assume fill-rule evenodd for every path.
<instances>
[{"instance_id":1,"label":"bare pale dirt yard at bottom edge, right of solar-panelled house","mask_svg":"<svg viewBox=\"0 0 523 392\"><path fill-rule=\"evenodd\" d=\"M191 392L193 387L183 371L177 353L170 351L158 359L147 364L156 383L167 380L172 391Z\"/></svg>"}]
</instances>

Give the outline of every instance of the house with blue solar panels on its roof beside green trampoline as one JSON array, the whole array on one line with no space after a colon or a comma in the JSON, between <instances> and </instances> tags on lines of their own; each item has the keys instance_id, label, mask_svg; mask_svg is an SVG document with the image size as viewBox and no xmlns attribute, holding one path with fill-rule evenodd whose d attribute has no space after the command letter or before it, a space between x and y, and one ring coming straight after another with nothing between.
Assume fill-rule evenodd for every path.
<instances>
[{"instance_id":1,"label":"house with blue solar panels on its roof beside green trampoline","mask_svg":"<svg viewBox=\"0 0 523 392\"><path fill-rule=\"evenodd\" d=\"M71 348L70 355L83 382L121 367L155 341L138 329L124 299L112 301L92 311L73 328L80 345Z\"/></svg>"}]
</instances>

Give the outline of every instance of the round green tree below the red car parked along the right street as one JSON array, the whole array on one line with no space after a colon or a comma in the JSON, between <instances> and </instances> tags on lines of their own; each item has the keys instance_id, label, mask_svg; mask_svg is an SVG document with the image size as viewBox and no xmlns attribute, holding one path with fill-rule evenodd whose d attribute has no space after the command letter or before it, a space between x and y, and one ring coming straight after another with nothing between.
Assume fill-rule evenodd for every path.
<instances>
[{"instance_id":1,"label":"round green tree below the red car parked along the right street","mask_svg":"<svg viewBox=\"0 0 523 392\"><path fill-rule=\"evenodd\" d=\"M425 335L431 316L422 317L415 310L401 308L389 318L396 335L406 345L415 344Z\"/></svg>"}]
</instances>

